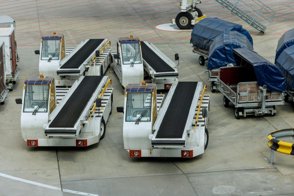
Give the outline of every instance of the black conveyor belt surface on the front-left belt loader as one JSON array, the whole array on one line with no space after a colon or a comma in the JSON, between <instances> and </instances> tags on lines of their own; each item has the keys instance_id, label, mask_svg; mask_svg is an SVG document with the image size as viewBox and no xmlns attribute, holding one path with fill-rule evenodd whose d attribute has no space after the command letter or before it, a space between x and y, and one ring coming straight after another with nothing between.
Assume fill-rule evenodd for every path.
<instances>
[{"instance_id":1,"label":"black conveyor belt surface on the front-left belt loader","mask_svg":"<svg viewBox=\"0 0 294 196\"><path fill-rule=\"evenodd\" d=\"M103 76L84 76L74 93L51 121L49 128L74 128Z\"/></svg>"}]
</instances>

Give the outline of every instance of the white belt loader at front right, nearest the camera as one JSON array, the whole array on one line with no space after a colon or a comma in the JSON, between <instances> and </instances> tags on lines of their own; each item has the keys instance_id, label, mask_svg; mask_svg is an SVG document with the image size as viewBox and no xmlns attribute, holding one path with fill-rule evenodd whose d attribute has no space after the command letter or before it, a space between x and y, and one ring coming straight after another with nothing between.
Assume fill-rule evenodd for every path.
<instances>
[{"instance_id":1,"label":"white belt loader at front right, nearest the camera","mask_svg":"<svg viewBox=\"0 0 294 196\"><path fill-rule=\"evenodd\" d=\"M156 84L128 84L125 107L117 111L124 114L123 144L129 156L192 158L204 153L209 109L205 90L201 82L174 82L161 107Z\"/></svg>"}]
</instances>

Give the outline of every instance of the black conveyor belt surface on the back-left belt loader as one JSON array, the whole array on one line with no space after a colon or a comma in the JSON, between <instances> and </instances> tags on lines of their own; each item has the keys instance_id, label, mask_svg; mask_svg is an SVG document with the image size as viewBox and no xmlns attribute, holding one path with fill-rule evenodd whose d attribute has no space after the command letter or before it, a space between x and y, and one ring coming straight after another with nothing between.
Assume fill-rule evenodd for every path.
<instances>
[{"instance_id":1,"label":"black conveyor belt surface on the back-left belt loader","mask_svg":"<svg viewBox=\"0 0 294 196\"><path fill-rule=\"evenodd\" d=\"M94 50L102 43L104 39L89 39L68 61L66 61L61 69L77 69L86 59L94 52Z\"/></svg>"}]
</instances>

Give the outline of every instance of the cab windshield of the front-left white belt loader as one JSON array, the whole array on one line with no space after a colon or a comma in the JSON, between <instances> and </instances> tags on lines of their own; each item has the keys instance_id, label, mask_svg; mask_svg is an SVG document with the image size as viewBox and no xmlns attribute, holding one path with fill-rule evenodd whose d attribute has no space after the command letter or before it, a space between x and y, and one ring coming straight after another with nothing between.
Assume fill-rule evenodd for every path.
<instances>
[{"instance_id":1,"label":"cab windshield of the front-left white belt loader","mask_svg":"<svg viewBox=\"0 0 294 196\"><path fill-rule=\"evenodd\" d=\"M45 85L26 85L26 91L24 96L24 112L34 112L36 108L39 109L36 112L47 112L48 109L48 94L49 86Z\"/></svg>"}]
</instances>

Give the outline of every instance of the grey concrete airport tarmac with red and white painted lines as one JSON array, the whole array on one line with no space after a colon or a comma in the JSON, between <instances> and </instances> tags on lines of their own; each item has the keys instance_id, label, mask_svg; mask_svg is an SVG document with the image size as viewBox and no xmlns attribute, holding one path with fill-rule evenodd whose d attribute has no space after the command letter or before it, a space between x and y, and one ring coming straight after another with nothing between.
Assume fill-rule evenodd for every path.
<instances>
[{"instance_id":1,"label":"grey concrete airport tarmac with red and white painted lines","mask_svg":"<svg viewBox=\"0 0 294 196\"><path fill-rule=\"evenodd\" d=\"M216 1L198 6L207 17L243 25L253 48L274 62L281 35L294 27L291 0L262 0L276 11L263 36ZM1 15L16 21L19 79L0 107L0 195L294 195L294 157L275 153L268 164L267 135L294 127L293 101L278 106L274 117L249 116L236 120L233 106L223 106L223 95L211 93L206 69L192 53L190 31L156 29L175 18L179 1L139 0L0 0ZM209 143L205 153L192 159L129 158L123 149L123 89L112 67L106 71L114 87L113 113L106 135L86 148L29 148L21 136L21 82L39 75L40 34L65 34L67 47L89 38L116 38L133 34L153 43L174 60L180 56L179 81L208 85ZM113 47L116 50L116 47ZM163 91L163 93L167 93ZM171 114L173 115L173 114Z\"/></svg>"}]
</instances>

